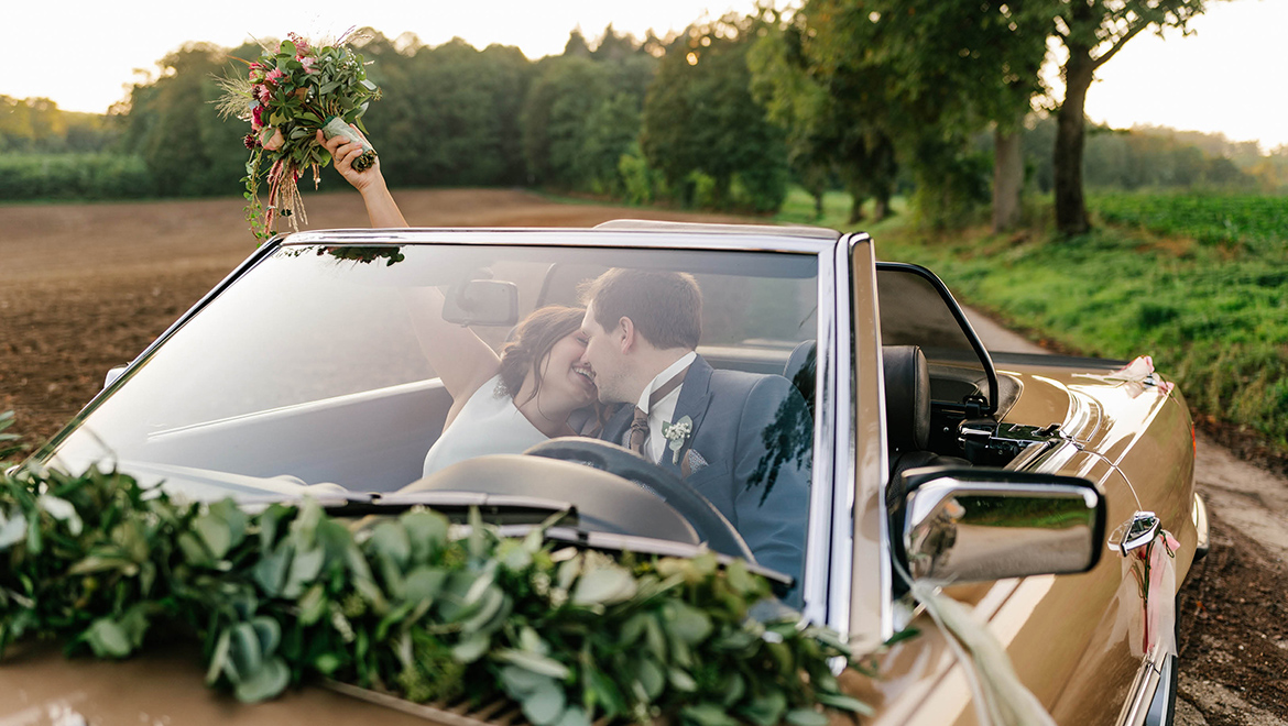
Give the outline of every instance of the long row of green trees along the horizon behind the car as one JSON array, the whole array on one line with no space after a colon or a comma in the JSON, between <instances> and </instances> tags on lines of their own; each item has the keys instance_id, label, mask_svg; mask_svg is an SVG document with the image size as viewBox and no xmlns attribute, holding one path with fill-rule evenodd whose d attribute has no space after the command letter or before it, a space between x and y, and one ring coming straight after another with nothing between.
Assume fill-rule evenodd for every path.
<instances>
[{"instance_id":1,"label":"long row of green trees along the horizon behind the car","mask_svg":"<svg viewBox=\"0 0 1288 726\"><path fill-rule=\"evenodd\" d=\"M878 216L911 187L927 221L951 224L990 202L998 229L1015 224L1028 170L1030 185L1054 192L1060 228L1077 233L1087 227L1084 169L1088 182L1123 188L1248 183L1222 158L1227 149L1141 134L1087 140L1095 70L1145 30L1185 28L1204 3L804 0L666 39L636 41L609 26L592 46L573 32L562 55L538 62L514 48L368 33L361 51L384 100L367 126L393 184L773 210L796 179L819 198L844 187L855 210L873 200ZM1060 99L1039 73L1048 41L1065 58ZM215 76L238 67L228 53L251 59L259 48L194 44L167 55L99 142L118 135L157 189L234 188L245 127L206 103L219 93ZM1034 126L1043 104L1054 112ZM40 111L27 107L28 117ZM0 125L0 143L5 133Z\"/></svg>"}]
</instances>

